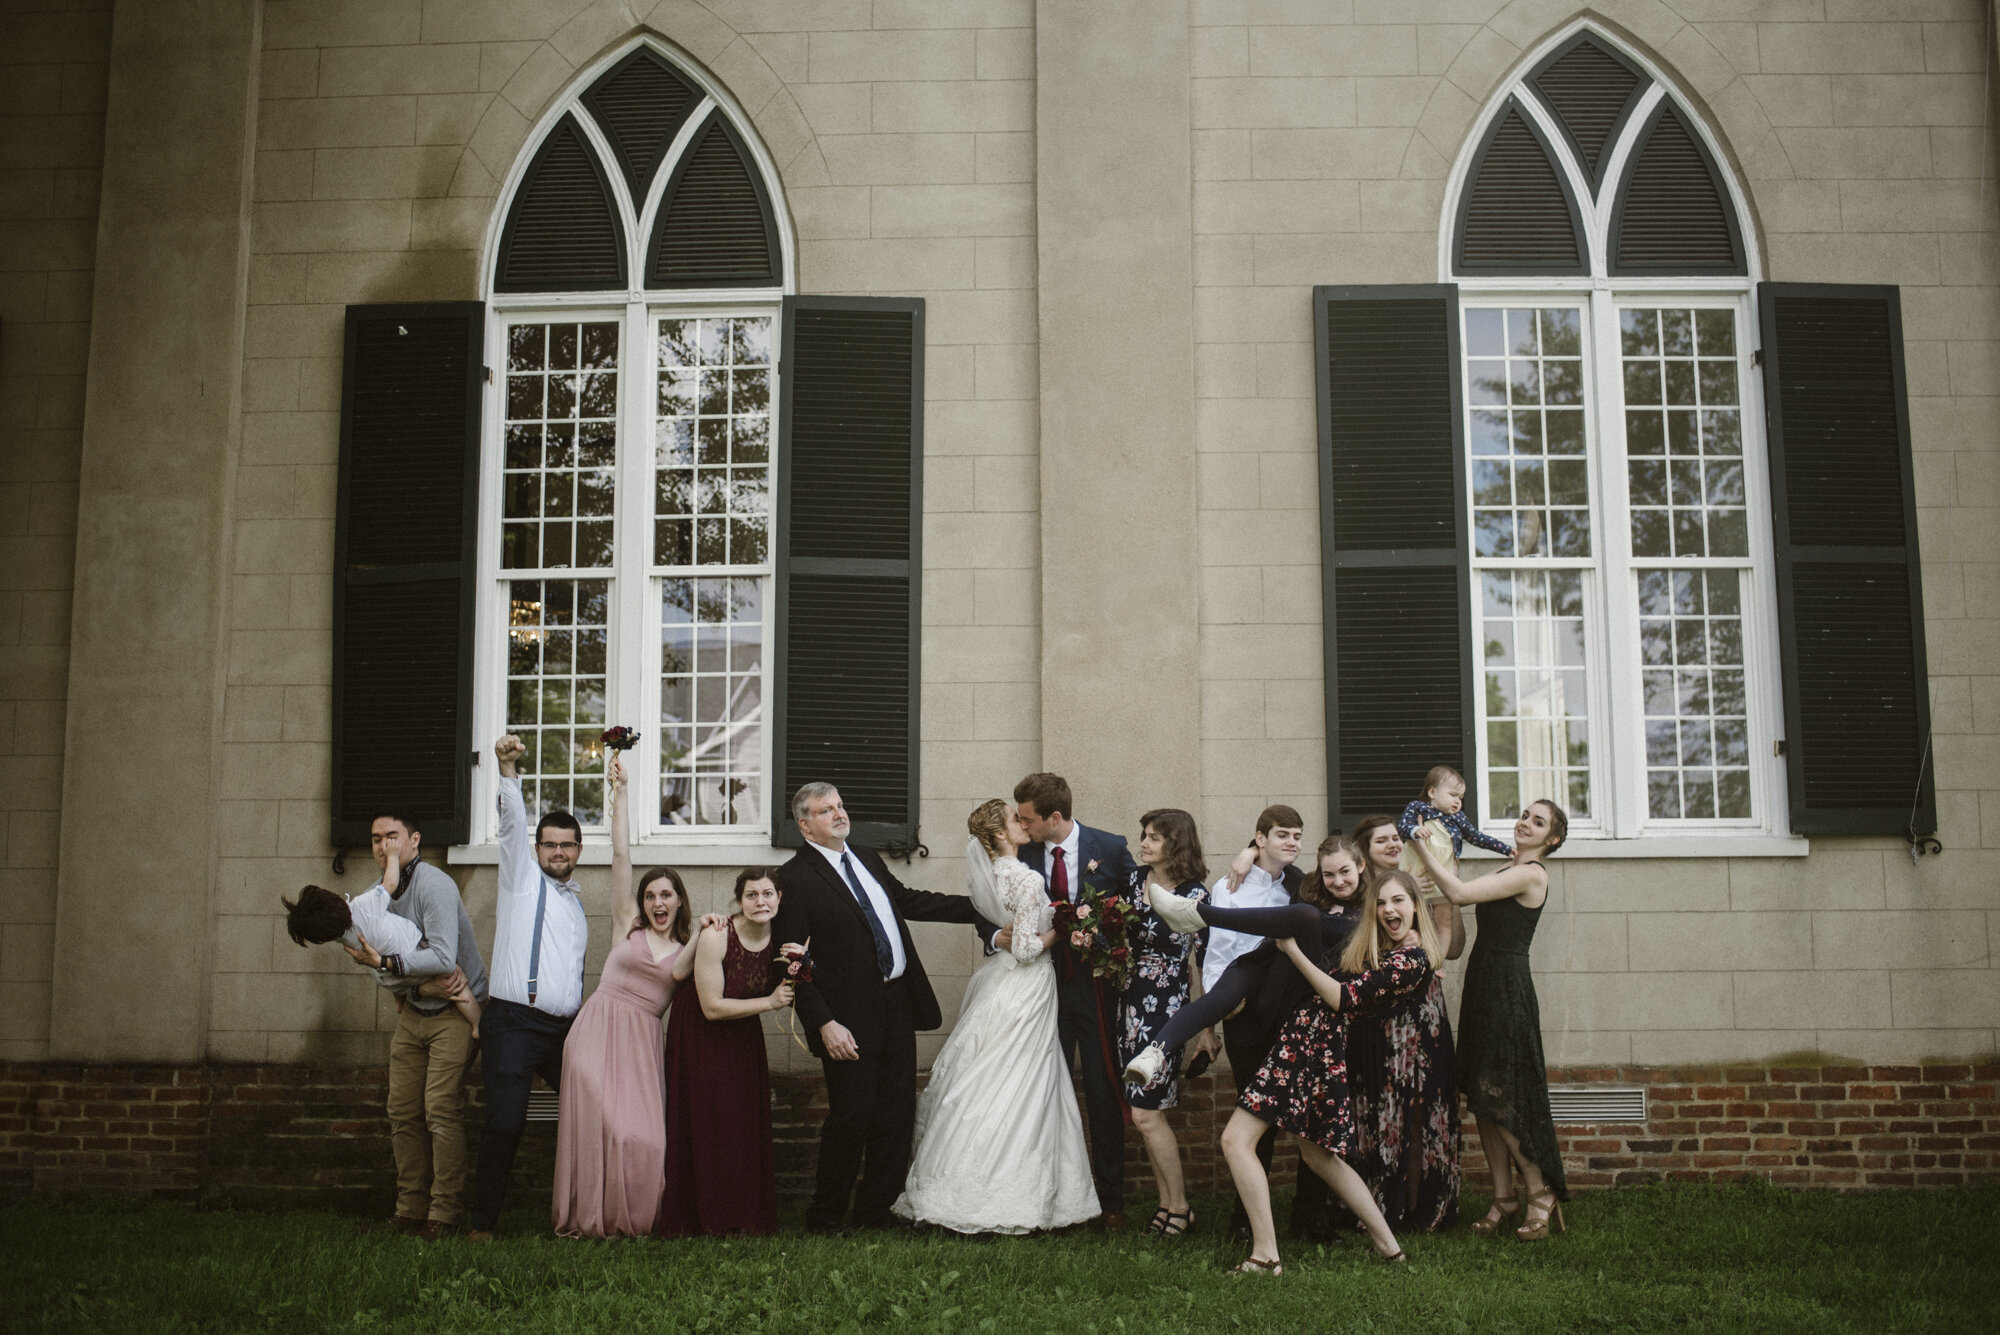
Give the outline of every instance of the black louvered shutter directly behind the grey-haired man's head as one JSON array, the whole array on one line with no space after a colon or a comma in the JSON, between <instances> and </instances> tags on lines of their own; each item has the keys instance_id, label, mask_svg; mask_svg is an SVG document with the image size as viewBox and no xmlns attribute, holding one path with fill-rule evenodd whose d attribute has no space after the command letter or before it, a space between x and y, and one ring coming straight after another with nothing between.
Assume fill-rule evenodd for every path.
<instances>
[{"instance_id":1,"label":"black louvered shutter directly behind the grey-haired man's head","mask_svg":"<svg viewBox=\"0 0 2000 1335\"><path fill-rule=\"evenodd\" d=\"M778 366L772 837L792 791L840 789L854 839L908 847L918 819L924 568L924 302L784 298Z\"/></svg>"}]
</instances>

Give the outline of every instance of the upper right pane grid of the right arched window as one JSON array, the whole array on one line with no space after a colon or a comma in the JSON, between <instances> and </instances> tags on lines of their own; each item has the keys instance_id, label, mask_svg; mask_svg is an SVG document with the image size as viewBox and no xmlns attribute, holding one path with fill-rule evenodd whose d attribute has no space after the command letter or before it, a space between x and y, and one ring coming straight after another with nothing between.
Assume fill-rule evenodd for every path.
<instances>
[{"instance_id":1,"label":"upper right pane grid of the right arched window","mask_svg":"<svg viewBox=\"0 0 2000 1335\"><path fill-rule=\"evenodd\" d=\"M1736 312L1618 314L1632 556L1750 554Z\"/></svg>"}]
</instances>

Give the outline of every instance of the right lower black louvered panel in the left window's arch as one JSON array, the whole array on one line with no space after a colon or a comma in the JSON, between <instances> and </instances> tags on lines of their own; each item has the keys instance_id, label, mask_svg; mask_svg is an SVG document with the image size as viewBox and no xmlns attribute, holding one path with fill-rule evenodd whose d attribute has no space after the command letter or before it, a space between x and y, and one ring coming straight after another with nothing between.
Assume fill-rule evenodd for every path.
<instances>
[{"instance_id":1,"label":"right lower black louvered panel in the left window's arch","mask_svg":"<svg viewBox=\"0 0 2000 1335\"><path fill-rule=\"evenodd\" d=\"M652 228L654 288L754 288L778 282L778 222L750 148L720 110L674 164Z\"/></svg>"}]
</instances>

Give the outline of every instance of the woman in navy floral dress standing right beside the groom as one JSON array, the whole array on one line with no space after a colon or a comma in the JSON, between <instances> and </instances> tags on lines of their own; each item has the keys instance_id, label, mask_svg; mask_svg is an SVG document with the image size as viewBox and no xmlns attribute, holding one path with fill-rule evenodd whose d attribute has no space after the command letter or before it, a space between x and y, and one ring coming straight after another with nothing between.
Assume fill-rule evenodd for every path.
<instances>
[{"instance_id":1,"label":"woman in navy floral dress standing right beside the groom","mask_svg":"<svg viewBox=\"0 0 2000 1335\"><path fill-rule=\"evenodd\" d=\"M1138 859L1144 867L1132 871L1124 899L1138 915L1132 935L1132 975L1118 1003L1118 1069L1124 1069L1154 1035L1166 1027L1200 975L1202 945L1208 931L1176 933L1146 903L1146 881L1174 889L1180 895L1202 897L1208 891L1208 863L1202 859L1202 837L1194 817L1174 807L1146 811ZM1188 1185L1180 1171L1180 1141L1166 1121L1166 1109L1180 1103L1180 1051L1166 1055L1166 1065L1148 1085L1126 1085L1132 1125L1146 1141L1152 1179L1160 1189L1160 1209L1148 1233L1180 1237L1194 1223L1188 1207Z\"/></svg>"}]
</instances>

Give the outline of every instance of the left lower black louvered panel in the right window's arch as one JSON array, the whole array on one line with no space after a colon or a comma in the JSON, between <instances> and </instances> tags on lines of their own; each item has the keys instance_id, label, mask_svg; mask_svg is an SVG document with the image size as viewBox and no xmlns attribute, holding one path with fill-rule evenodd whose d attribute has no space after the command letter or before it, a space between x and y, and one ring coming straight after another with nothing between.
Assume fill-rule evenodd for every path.
<instances>
[{"instance_id":1,"label":"left lower black louvered panel in the right window's arch","mask_svg":"<svg viewBox=\"0 0 2000 1335\"><path fill-rule=\"evenodd\" d=\"M1458 206L1456 274L1588 274L1584 216L1540 126L1508 98L1472 156Z\"/></svg>"}]
</instances>

